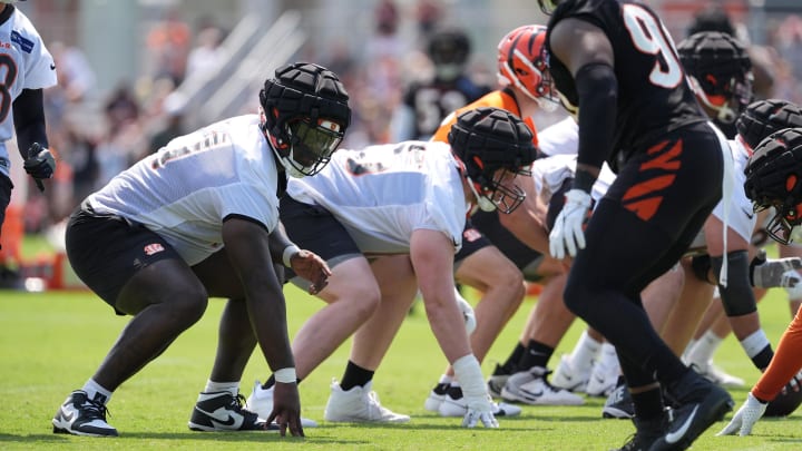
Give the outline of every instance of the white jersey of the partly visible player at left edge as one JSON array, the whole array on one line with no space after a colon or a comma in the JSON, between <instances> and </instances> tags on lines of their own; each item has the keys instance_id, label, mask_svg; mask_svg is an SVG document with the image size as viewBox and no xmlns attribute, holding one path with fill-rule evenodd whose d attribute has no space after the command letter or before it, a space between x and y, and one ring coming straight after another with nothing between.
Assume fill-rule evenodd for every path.
<instances>
[{"instance_id":1,"label":"white jersey of the partly visible player at left edge","mask_svg":"<svg viewBox=\"0 0 802 451\"><path fill-rule=\"evenodd\" d=\"M6 18L8 12L11 14ZM23 89L43 89L56 85L56 66L39 32L13 6L7 6L0 19L0 173L9 175L6 141L14 136L11 104Z\"/></svg>"}]
</instances>

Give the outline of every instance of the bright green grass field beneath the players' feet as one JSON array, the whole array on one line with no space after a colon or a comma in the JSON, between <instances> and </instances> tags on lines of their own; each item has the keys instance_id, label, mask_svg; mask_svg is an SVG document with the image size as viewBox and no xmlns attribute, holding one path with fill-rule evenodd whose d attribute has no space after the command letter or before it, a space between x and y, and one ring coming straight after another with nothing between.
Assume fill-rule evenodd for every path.
<instances>
[{"instance_id":1,"label":"bright green grass field beneath the players' feet","mask_svg":"<svg viewBox=\"0 0 802 451\"><path fill-rule=\"evenodd\" d=\"M322 303L287 287L291 331ZM305 439L275 433L200 433L187 429L197 393L203 389L214 356L216 324L223 302L213 300L204 318L182 335L158 360L124 384L109 404L109 423L116 439L78 438L51 432L50 420L74 389L91 376L127 320L88 292L27 294L0 291L0 449L359 449L359 450L607 450L620 447L634 429L629 421L603 420L603 399L584 406L524 406L520 418L500 419L501 429L472 430L460 419L427 412L423 401L446 361L431 334L423 310L410 315L374 379L384 405L412 415L400 425L344 425L322 422L332 378L341 378L348 344L301 384L303 414L321 422ZM534 305L525 302L497 341L483 371L507 357ZM782 291L761 303L766 332L776 343L790 315ZM569 352L581 330L576 323L558 349L552 366ZM350 343L349 343L350 344ZM734 339L728 339L716 362L752 384L757 372ZM267 365L254 354L243 379L247 396L255 379L264 380ZM740 405L746 389L731 392ZM727 416L727 419L730 415ZM800 413L788 419L763 420L750 438L714 437L714 425L694 450L802 449Z\"/></svg>"}]
</instances>

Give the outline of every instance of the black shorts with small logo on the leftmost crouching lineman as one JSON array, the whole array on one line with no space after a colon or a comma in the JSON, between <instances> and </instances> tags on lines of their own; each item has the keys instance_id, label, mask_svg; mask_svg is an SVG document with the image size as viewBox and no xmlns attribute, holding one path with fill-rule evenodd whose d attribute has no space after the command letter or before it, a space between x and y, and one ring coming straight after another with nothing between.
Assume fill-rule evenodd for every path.
<instances>
[{"instance_id":1,"label":"black shorts with small logo on the leftmost crouching lineman","mask_svg":"<svg viewBox=\"0 0 802 451\"><path fill-rule=\"evenodd\" d=\"M159 235L117 215L96 214L86 203L69 218L67 257L84 283L107 304L139 269L162 259L182 259ZM169 281L165 281L169 283ZM115 308L118 315L124 315Z\"/></svg>"}]
</instances>

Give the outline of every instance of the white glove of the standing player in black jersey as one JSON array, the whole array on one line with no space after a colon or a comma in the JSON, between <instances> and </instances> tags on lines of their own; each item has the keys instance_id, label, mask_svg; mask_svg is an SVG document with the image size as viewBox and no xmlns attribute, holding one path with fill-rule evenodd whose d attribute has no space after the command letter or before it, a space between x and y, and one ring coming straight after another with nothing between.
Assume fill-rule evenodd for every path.
<instances>
[{"instance_id":1,"label":"white glove of the standing player in black jersey","mask_svg":"<svg viewBox=\"0 0 802 451\"><path fill-rule=\"evenodd\" d=\"M557 259L568 255L575 257L578 249L585 248L585 231L583 225L590 209L590 195L581 189L566 193L563 210L557 215L554 228L549 234L549 253Z\"/></svg>"}]
</instances>

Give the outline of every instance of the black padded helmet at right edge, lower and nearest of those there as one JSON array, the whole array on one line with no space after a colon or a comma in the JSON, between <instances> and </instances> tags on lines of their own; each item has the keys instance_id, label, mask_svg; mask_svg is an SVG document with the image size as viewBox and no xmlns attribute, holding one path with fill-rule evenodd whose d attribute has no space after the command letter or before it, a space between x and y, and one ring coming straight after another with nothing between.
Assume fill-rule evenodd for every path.
<instances>
[{"instance_id":1,"label":"black padded helmet at right edge, lower and nearest of those there","mask_svg":"<svg viewBox=\"0 0 802 451\"><path fill-rule=\"evenodd\" d=\"M763 139L744 174L744 190L754 210L774 207L766 233L789 244L793 227L802 224L802 128L786 128Z\"/></svg>"}]
</instances>

